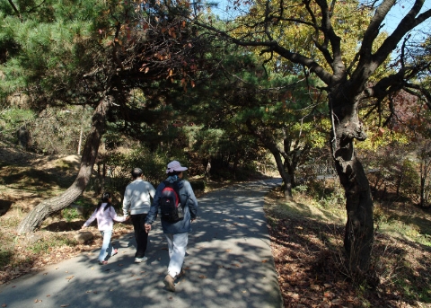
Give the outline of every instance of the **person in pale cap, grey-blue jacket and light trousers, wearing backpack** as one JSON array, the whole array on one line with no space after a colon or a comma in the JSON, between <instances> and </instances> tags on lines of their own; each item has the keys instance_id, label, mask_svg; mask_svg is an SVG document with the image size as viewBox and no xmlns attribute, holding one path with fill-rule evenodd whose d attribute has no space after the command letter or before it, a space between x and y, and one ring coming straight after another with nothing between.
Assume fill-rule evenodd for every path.
<instances>
[{"instance_id":1,"label":"person in pale cap, grey-blue jacket and light trousers, wearing backpack","mask_svg":"<svg viewBox=\"0 0 431 308\"><path fill-rule=\"evenodd\" d=\"M157 216L159 202L163 189L170 185L175 185L179 192L180 207L183 209L183 218L176 222L162 220L163 233L166 236L169 249L168 273L163 279L163 283L169 291L175 292L175 278L184 275L182 265L186 255L187 244L189 242L189 232L191 223L198 217L198 200L188 180L183 180L183 172L188 168L181 166L178 161L168 163L166 173L168 178L159 184L155 191L153 205L145 218L145 230L151 230L151 224Z\"/></svg>"}]
</instances>

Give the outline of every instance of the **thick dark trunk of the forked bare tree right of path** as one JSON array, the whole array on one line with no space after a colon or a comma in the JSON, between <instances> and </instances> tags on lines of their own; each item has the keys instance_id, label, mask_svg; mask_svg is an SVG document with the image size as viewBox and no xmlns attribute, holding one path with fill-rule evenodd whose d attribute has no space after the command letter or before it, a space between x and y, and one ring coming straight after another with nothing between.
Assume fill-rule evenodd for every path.
<instances>
[{"instance_id":1,"label":"thick dark trunk of the forked bare tree right of path","mask_svg":"<svg viewBox=\"0 0 431 308\"><path fill-rule=\"evenodd\" d=\"M365 140L356 104L339 103L333 110L331 149L346 193L347 224L344 247L351 273L362 274L369 268L374 241L373 200L362 163L356 157L353 141Z\"/></svg>"}]
</instances>

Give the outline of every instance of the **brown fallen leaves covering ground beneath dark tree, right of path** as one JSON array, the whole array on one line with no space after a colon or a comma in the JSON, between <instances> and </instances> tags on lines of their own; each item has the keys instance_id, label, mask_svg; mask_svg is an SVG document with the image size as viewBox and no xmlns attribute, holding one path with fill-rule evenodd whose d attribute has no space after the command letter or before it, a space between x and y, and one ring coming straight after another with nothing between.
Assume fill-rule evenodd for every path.
<instances>
[{"instance_id":1,"label":"brown fallen leaves covering ground beneath dark tree, right of path","mask_svg":"<svg viewBox=\"0 0 431 308\"><path fill-rule=\"evenodd\" d=\"M268 223L285 307L431 307L429 247L375 233L370 275L358 283L343 263L344 230L300 216Z\"/></svg>"}]
</instances>

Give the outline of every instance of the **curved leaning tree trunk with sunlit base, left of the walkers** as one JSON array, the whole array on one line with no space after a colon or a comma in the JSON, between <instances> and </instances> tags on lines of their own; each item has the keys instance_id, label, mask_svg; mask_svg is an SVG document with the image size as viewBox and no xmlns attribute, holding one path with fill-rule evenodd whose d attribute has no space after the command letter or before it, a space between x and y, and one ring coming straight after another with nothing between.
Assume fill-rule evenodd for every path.
<instances>
[{"instance_id":1,"label":"curved leaning tree trunk with sunlit base, left of the walkers","mask_svg":"<svg viewBox=\"0 0 431 308\"><path fill-rule=\"evenodd\" d=\"M81 167L74 183L66 191L54 198L43 200L24 217L18 225L18 233L31 233L51 214L67 207L84 191L92 176L92 168L96 160L101 136L105 129L105 117L108 108L107 101L101 101L92 115L92 130L84 145Z\"/></svg>"}]
</instances>

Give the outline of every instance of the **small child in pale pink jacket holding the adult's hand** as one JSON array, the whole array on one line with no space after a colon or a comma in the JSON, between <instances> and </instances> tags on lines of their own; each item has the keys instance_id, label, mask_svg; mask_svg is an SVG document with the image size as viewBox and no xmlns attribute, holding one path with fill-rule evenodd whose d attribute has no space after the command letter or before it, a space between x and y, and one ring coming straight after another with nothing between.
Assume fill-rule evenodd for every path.
<instances>
[{"instance_id":1,"label":"small child in pale pink jacket holding the adult's hand","mask_svg":"<svg viewBox=\"0 0 431 308\"><path fill-rule=\"evenodd\" d=\"M114 220L117 222L124 222L128 220L128 217L117 216L115 213L115 208L110 204L111 197L110 192L104 192L101 197L101 202L97 205L92 216L88 218L85 224L81 229L84 229L89 224L92 224L94 219L97 219L97 227L101 232L101 236L103 237L103 242L101 244L101 253L99 254L99 263L102 265L108 264L108 261L105 260L108 255L114 256L117 254L118 250L113 249L112 244L110 243L110 237L112 236L112 226L114 225Z\"/></svg>"}]
</instances>

